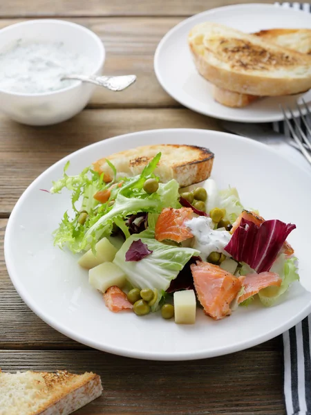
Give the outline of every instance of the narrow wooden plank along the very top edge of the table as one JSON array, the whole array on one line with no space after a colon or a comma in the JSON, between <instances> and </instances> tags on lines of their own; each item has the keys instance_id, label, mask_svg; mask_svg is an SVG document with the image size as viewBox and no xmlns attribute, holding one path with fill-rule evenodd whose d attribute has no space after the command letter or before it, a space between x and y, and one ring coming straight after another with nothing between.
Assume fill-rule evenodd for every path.
<instances>
[{"instance_id":1,"label":"narrow wooden plank along the very top edge of the table","mask_svg":"<svg viewBox=\"0 0 311 415\"><path fill-rule=\"evenodd\" d=\"M235 4L236 0L10 0L0 2L1 17L58 16L190 16L196 13ZM252 3L240 0L239 3ZM261 0L273 3L273 0Z\"/></svg>"}]
</instances>

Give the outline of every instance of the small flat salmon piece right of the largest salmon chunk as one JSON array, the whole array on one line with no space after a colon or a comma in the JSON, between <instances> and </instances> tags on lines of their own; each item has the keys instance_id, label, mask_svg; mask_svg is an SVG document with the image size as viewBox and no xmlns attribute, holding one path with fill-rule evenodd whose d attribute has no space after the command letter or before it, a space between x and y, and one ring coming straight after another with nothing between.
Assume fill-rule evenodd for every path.
<instances>
[{"instance_id":1,"label":"small flat salmon piece right of the largest salmon chunk","mask_svg":"<svg viewBox=\"0 0 311 415\"><path fill-rule=\"evenodd\" d=\"M281 277L276 273L247 274L238 277L238 279L241 281L241 284L245 289L243 295L238 297L238 304L245 301L245 299L258 294L263 288L270 286L279 287L282 283Z\"/></svg>"}]
</instances>

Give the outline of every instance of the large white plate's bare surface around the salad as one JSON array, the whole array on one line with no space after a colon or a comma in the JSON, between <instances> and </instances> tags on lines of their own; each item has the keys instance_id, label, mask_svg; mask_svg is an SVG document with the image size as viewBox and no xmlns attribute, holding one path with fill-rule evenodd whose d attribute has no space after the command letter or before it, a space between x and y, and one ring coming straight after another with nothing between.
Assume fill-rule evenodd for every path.
<instances>
[{"instance_id":1,"label":"large white plate's bare surface around the salad","mask_svg":"<svg viewBox=\"0 0 311 415\"><path fill-rule=\"evenodd\" d=\"M126 134L80 149L46 170L23 193L10 219L5 257L19 295L42 320L70 338L102 351L153 360L191 360L232 353L265 342L311 311L311 294L294 284L272 308L240 307L218 322L198 310L196 324L178 325L158 314L111 313L88 284L77 256L53 246L52 232L70 208L70 194L49 194L52 181L79 174L100 157L140 145L191 144L215 154L212 176L236 186L245 207L267 219L296 223L289 241L299 257L301 279L310 277L311 175L258 142L228 133L163 129Z\"/></svg>"}]
</instances>

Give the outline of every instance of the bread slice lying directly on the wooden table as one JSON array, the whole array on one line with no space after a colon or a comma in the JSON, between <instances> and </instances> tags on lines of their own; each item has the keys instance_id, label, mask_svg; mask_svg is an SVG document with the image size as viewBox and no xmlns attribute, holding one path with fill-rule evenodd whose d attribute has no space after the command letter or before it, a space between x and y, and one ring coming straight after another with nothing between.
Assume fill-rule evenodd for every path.
<instances>
[{"instance_id":1,"label":"bread slice lying directly on the wooden table","mask_svg":"<svg viewBox=\"0 0 311 415\"><path fill-rule=\"evenodd\" d=\"M101 394L93 373L0 371L0 415L68 415Z\"/></svg>"}]
</instances>

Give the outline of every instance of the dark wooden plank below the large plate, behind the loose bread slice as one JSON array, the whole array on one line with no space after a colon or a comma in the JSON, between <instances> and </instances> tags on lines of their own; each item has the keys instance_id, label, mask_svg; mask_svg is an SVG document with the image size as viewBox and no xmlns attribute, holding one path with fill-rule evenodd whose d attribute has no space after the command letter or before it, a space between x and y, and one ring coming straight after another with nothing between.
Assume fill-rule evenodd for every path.
<instances>
[{"instance_id":1,"label":"dark wooden plank below the large plate, behind the loose bread slice","mask_svg":"<svg viewBox=\"0 0 311 415\"><path fill-rule=\"evenodd\" d=\"M95 371L103 394L77 415L285 415L282 356L249 349L190 362L153 362L98 351L1 351L3 371Z\"/></svg>"}]
</instances>

